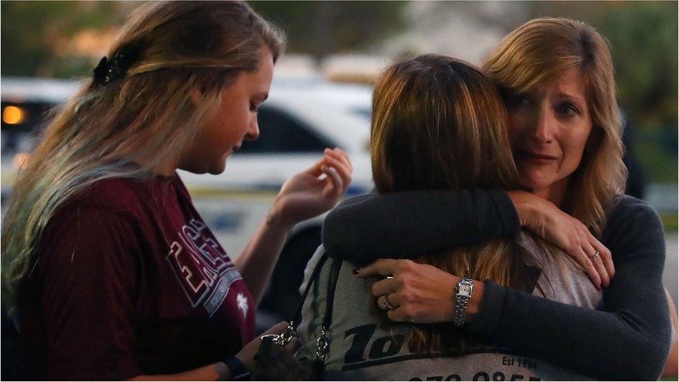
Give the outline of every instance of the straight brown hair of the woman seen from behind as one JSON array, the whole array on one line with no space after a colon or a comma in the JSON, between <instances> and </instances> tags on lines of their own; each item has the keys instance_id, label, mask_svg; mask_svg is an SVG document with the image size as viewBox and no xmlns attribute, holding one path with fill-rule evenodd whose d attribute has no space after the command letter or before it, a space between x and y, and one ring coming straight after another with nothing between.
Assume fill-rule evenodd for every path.
<instances>
[{"instance_id":1,"label":"straight brown hair of the woman seen from behind","mask_svg":"<svg viewBox=\"0 0 679 382\"><path fill-rule=\"evenodd\" d=\"M372 106L372 170L379 193L518 186L502 98L472 65L436 54L395 63L378 79ZM521 288L523 253L516 240L503 238L415 261ZM391 325L385 312L376 314L382 325ZM413 351L437 351L465 337L452 325L415 325L408 344Z\"/></svg>"}]
</instances>

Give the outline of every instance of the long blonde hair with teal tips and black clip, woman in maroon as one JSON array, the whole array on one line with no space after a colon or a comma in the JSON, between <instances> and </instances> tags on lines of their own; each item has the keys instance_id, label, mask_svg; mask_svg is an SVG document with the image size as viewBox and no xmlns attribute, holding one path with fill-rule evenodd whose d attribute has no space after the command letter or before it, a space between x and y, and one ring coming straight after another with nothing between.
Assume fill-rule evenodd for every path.
<instances>
[{"instance_id":1,"label":"long blonde hair with teal tips and black clip, woman in maroon","mask_svg":"<svg viewBox=\"0 0 679 382\"><path fill-rule=\"evenodd\" d=\"M221 90L239 72L257 69L262 48L275 62L284 45L282 32L241 1L138 8L107 56L132 57L127 73L108 83L87 81L17 174L2 230L7 308L15 308L17 285L38 263L41 234L65 200L99 180L147 179L159 164L177 163ZM200 102L191 98L195 90Z\"/></svg>"}]
</instances>

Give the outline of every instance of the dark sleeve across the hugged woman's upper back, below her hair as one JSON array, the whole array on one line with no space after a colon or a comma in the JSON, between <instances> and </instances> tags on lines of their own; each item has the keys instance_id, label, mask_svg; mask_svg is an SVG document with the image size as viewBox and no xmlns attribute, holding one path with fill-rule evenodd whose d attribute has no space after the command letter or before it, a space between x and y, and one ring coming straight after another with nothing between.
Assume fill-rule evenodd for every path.
<instances>
[{"instance_id":1,"label":"dark sleeve across the hugged woman's upper back, below her hair","mask_svg":"<svg viewBox=\"0 0 679 382\"><path fill-rule=\"evenodd\" d=\"M513 202L500 189L367 193L330 211L323 246L330 257L371 262L481 243L520 229Z\"/></svg>"}]
</instances>

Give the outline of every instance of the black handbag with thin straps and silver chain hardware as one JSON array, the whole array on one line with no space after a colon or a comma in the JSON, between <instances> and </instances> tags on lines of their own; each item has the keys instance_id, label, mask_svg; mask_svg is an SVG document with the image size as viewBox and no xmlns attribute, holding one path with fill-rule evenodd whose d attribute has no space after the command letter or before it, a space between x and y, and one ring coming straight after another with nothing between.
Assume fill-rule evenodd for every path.
<instances>
[{"instance_id":1,"label":"black handbag with thin straps and silver chain hardware","mask_svg":"<svg viewBox=\"0 0 679 382\"><path fill-rule=\"evenodd\" d=\"M285 345L298 337L295 323L301 321L304 301L307 298L307 294L309 294L314 280L317 280L319 277L321 268L323 268L326 260L328 260L328 254L323 253L319 264L314 268L311 278L304 289L295 315L285 329L285 332L259 337L261 343L259 344L257 356L255 356L253 381L318 381L321 378L321 371L326 360L329 345L326 331L330 328L332 322L333 299L335 298L335 287L337 287L337 278L340 275L342 260L334 259L330 269L326 312L323 314L321 332L316 340L317 350L315 358L312 360L306 358L298 360L294 357L293 352L285 348Z\"/></svg>"}]
</instances>

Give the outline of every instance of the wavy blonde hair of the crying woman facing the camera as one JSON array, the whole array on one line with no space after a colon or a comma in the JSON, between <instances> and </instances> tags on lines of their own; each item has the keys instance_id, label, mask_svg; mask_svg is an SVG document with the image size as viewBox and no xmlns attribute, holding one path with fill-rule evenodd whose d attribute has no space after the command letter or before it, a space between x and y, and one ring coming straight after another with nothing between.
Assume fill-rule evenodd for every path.
<instances>
[{"instance_id":1,"label":"wavy blonde hair of the crying woman facing the camera","mask_svg":"<svg viewBox=\"0 0 679 382\"><path fill-rule=\"evenodd\" d=\"M600 235L605 212L624 193L627 179L613 64L604 38L582 22L533 19L506 35L484 63L507 97L527 93L571 67L586 83L593 136L562 208Z\"/></svg>"}]
</instances>

